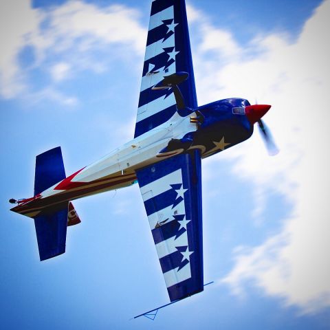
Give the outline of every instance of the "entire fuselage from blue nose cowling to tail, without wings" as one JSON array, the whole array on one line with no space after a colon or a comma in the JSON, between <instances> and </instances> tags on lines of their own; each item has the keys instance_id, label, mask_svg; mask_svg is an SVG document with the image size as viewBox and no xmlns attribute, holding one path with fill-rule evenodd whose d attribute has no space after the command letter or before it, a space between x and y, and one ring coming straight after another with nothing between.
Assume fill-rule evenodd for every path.
<instances>
[{"instance_id":1,"label":"entire fuselage from blue nose cowling to tail, without wings","mask_svg":"<svg viewBox=\"0 0 330 330\"><path fill-rule=\"evenodd\" d=\"M231 98L198 107L186 117L175 113L168 122L123 144L41 194L19 201L12 211L35 217L46 209L51 212L61 208L67 201L131 186L136 182L135 170L173 155L195 148L201 151L202 158L219 153L252 135L253 124L240 111L247 105L250 105L247 100ZM178 143L175 148L170 144L173 141Z\"/></svg>"}]
</instances>

